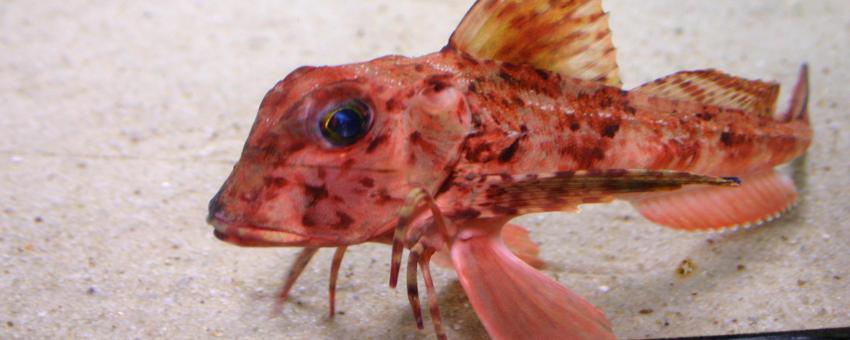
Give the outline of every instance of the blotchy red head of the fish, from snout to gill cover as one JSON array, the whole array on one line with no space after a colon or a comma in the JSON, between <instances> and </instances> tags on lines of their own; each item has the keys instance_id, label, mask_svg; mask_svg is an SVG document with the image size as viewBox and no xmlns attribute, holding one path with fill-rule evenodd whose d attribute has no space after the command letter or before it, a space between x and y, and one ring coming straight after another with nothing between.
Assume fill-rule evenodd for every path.
<instances>
[{"instance_id":1,"label":"blotchy red head of the fish, from snout to gill cover","mask_svg":"<svg viewBox=\"0 0 850 340\"><path fill-rule=\"evenodd\" d=\"M388 57L302 67L276 84L209 203L216 237L320 247L391 230L411 190L448 177L470 130L460 91L427 71Z\"/></svg>"}]
</instances>

